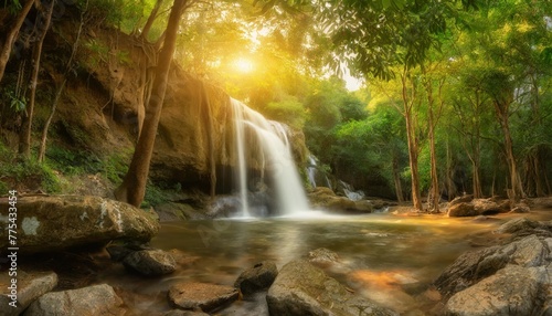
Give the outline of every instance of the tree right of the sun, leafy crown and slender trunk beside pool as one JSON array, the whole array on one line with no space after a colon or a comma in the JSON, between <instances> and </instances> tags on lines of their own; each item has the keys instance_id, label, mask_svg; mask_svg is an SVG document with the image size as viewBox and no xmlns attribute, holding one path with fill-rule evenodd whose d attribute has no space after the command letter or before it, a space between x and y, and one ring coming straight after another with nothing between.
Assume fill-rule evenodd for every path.
<instances>
[{"instance_id":1,"label":"tree right of the sun, leafy crown and slender trunk beside pool","mask_svg":"<svg viewBox=\"0 0 552 316\"><path fill-rule=\"evenodd\" d=\"M438 44L435 35L455 15L455 1L330 1L320 14L341 60L363 76L391 80L399 71L402 113L405 117L411 167L412 202L422 210L416 112L418 78L412 71L423 65L427 52Z\"/></svg>"}]
</instances>

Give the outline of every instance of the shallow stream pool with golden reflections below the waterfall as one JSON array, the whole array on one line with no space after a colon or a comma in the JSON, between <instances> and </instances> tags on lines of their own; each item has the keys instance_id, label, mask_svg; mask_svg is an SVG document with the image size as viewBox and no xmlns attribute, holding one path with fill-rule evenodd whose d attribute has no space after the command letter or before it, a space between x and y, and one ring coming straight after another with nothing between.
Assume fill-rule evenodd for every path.
<instances>
[{"instance_id":1,"label":"shallow stream pool with golden reflections below the waterfall","mask_svg":"<svg viewBox=\"0 0 552 316\"><path fill-rule=\"evenodd\" d=\"M532 215L539 212L533 212ZM550 219L546 212L543 217ZM114 267L102 278L123 288L132 315L168 310L167 291L185 281L233 285L240 273L263 260L278 268L318 247L339 254L329 273L352 288L402 313L420 308L418 296L438 274L470 249L468 234L488 231L508 219L476 222L444 217L328 215L164 223L151 244L180 254L180 267L163 278L142 278ZM543 219L543 218L538 218ZM179 256L179 255L177 255ZM268 315L259 294L216 315Z\"/></svg>"}]
</instances>

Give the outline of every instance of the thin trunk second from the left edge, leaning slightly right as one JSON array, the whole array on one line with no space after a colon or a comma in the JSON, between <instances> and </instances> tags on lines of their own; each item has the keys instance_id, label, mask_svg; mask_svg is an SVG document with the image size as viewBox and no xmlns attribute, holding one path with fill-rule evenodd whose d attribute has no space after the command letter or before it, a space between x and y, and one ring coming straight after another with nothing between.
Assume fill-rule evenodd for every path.
<instances>
[{"instance_id":1,"label":"thin trunk second from the left edge, leaning slightly right","mask_svg":"<svg viewBox=\"0 0 552 316\"><path fill-rule=\"evenodd\" d=\"M52 0L47 11L45 12L45 21L44 24L39 22L39 25L44 25L44 30L42 30L40 34L39 42L36 46L34 46L33 51L33 73L31 76L31 96L29 98L29 105L26 106L26 116L23 117L23 124L21 131L19 134L19 154L29 157L31 156L31 128L33 122L33 113L34 113L34 101L36 98L36 85L39 82L39 72L40 72L40 59L42 56L42 44L44 43L44 39L46 38L47 29L50 29L50 22L52 21L52 12L54 11L55 0Z\"/></svg>"}]
</instances>

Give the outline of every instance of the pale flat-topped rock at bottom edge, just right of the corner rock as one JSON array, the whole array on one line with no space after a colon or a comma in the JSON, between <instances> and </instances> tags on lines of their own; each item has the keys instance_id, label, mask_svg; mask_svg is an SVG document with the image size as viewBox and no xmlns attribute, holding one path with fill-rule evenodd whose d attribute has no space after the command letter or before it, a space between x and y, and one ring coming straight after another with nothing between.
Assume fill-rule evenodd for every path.
<instances>
[{"instance_id":1,"label":"pale flat-topped rock at bottom edge, just right of the corner rock","mask_svg":"<svg viewBox=\"0 0 552 316\"><path fill-rule=\"evenodd\" d=\"M107 284L78 289L50 292L25 310L25 316L95 316L124 315L123 299Z\"/></svg>"}]
</instances>

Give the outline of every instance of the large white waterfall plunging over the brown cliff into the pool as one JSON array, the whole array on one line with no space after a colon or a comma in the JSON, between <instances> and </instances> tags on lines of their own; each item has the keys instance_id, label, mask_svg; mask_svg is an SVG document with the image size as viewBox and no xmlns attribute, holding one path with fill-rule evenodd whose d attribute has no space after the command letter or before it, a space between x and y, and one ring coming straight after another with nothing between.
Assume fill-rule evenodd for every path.
<instances>
[{"instance_id":1,"label":"large white waterfall plunging over the brown cliff into the pool","mask_svg":"<svg viewBox=\"0 0 552 316\"><path fill-rule=\"evenodd\" d=\"M236 164L235 178L242 200L243 217L255 215L251 209L248 181L250 169L255 159L259 169L259 181L270 180L275 191L275 203L282 215L291 215L309 209L286 128L277 122L269 122L243 103L231 99L234 114ZM254 183L257 185L257 183Z\"/></svg>"}]
</instances>

